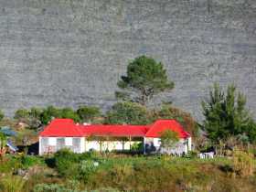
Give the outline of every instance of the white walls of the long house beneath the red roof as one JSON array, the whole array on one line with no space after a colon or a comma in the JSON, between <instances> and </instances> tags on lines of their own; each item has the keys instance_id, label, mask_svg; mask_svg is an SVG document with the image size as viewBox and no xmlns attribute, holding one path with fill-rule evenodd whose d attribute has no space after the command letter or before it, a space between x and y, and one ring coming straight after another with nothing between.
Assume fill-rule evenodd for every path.
<instances>
[{"instance_id":1,"label":"white walls of the long house beneath the red roof","mask_svg":"<svg viewBox=\"0 0 256 192\"><path fill-rule=\"evenodd\" d=\"M112 150L130 150L133 144L139 144L140 141L105 141L101 144L99 141L87 141L84 137L39 137L39 155L55 153L62 148L69 148L74 153L83 153L90 150L112 151ZM146 153L168 153L182 155L191 151L191 137L180 139L174 148L166 152L161 149L160 138L144 138Z\"/></svg>"}]
</instances>

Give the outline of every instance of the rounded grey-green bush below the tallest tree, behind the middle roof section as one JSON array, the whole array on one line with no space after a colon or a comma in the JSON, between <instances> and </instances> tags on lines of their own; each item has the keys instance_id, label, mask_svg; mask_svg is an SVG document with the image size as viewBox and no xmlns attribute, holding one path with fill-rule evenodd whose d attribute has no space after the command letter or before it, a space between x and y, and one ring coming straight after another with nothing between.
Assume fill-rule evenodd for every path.
<instances>
[{"instance_id":1,"label":"rounded grey-green bush below the tallest tree, behind the middle roof section","mask_svg":"<svg viewBox=\"0 0 256 192\"><path fill-rule=\"evenodd\" d=\"M136 102L117 102L106 113L105 123L108 124L147 124L148 116L146 108Z\"/></svg>"}]
</instances>

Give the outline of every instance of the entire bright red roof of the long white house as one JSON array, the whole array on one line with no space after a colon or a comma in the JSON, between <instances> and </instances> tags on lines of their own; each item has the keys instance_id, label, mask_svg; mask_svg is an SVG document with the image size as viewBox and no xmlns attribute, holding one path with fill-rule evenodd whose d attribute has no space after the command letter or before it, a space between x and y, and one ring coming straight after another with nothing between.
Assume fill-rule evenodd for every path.
<instances>
[{"instance_id":1,"label":"entire bright red roof of the long white house","mask_svg":"<svg viewBox=\"0 0 256 192\"><path fill-rule=\"evenodd\" d=\"M159 137L159 133L170 129L178 133L180 138L187 138L189 133L185 132L176 120L158 120L152 125L103 125L76 124L69 119L53 120L40 136L132 136L132 137Z\"/></svg>"}]
</instances>

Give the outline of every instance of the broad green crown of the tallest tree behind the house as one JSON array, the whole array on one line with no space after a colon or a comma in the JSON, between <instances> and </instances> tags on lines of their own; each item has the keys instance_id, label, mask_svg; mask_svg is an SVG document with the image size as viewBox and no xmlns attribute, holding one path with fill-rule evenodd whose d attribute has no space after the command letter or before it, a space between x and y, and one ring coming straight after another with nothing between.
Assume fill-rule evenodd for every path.
<instances>
[{"instance_id":1,"label":"broad green crown of the tallest tree behind the house","mask_svg":"<svg viewBox=\"0 0 256 192\"><path fill-rule=\"evenodd\" d=\"M174 88L174 82L168 80L163 64L145 56L128 64L127 75L122 76L117 85L124 91L116 92L117 96L128 97L143 105L157 93Z\"/></svg>"}]
</instances>

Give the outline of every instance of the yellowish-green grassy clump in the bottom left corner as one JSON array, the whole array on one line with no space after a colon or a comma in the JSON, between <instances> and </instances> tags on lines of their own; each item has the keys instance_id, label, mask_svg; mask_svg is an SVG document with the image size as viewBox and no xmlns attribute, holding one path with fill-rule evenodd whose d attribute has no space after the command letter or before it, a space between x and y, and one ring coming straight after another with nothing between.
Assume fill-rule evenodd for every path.
<instances>
[{"instance_id":1,"label":"yellowish-green grassy clump in the bottom left corner","mask_svg":"<svg viewBox=\"0 0 256 192\"><path fill-rule=\"evenodd\" d=\"M21 176L7 175L0 180L0 191L21 192L26 183Z\"/></svg>"}]
</instances>

